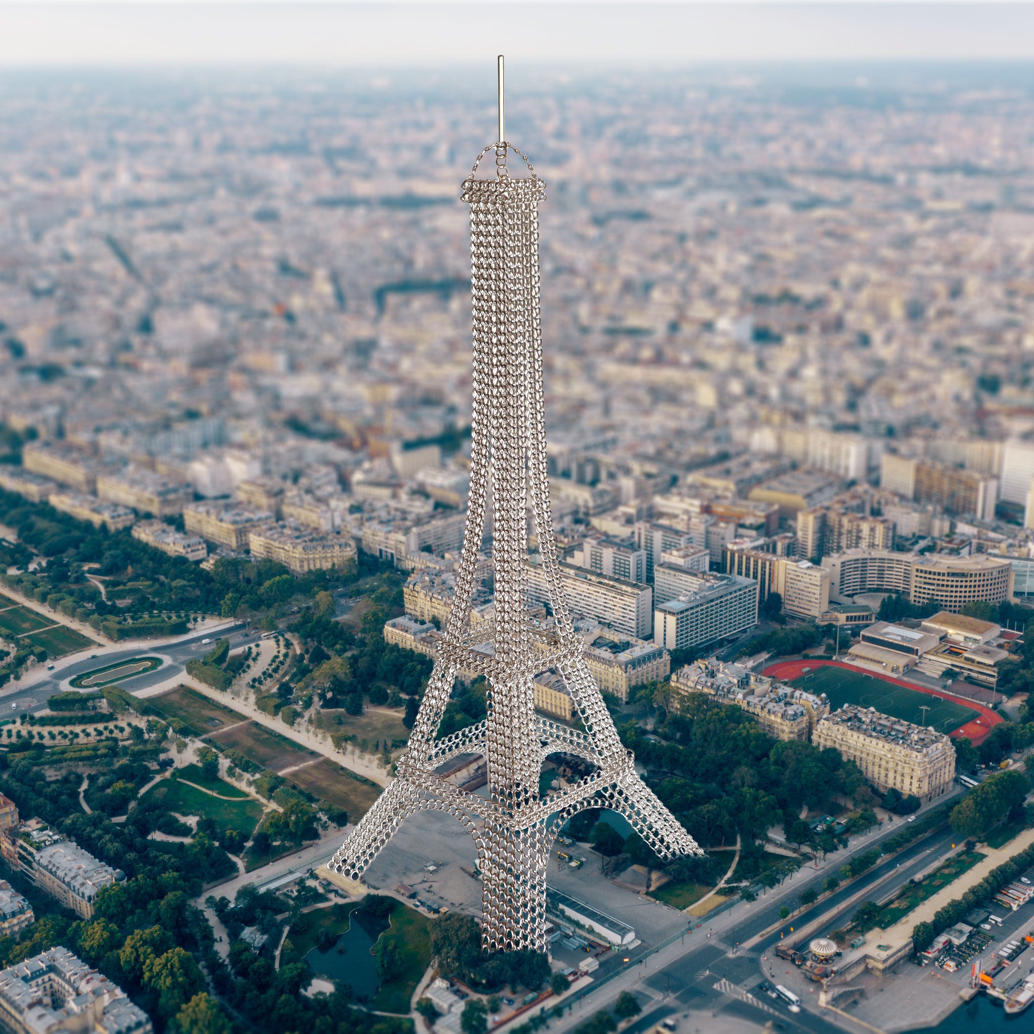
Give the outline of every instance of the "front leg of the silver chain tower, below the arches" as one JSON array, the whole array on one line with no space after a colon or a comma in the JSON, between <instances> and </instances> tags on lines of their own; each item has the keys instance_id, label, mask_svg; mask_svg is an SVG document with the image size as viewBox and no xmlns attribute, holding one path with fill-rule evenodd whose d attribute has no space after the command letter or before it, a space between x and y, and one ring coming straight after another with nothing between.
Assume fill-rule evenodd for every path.
<instances>
[{"instance_id":1,"label":"front leg of the silver chain tower, below the arches","mask_svg":"<svg viewBox=\"0 0 1034 1034\"><path fill-rule=\"evenodd\" d=\"M546 823L486 829L481 942L486 951L546 950Z\"/></svg>"}]
</instances>

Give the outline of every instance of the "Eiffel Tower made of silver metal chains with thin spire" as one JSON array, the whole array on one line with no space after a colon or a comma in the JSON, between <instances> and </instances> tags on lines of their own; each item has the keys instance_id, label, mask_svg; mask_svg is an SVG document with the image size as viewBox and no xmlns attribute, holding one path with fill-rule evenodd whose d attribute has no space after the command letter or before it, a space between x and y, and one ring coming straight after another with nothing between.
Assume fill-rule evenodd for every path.
<instances>
[{"instance_id":1,"label":"Eiffel Tower made of silver metal chains with thin spire","mask_svg":"<svg viewBox=\"0 0 1034 1034\"><path fill-rule=\"evenodd\" d=\"M481 160L493 150L494 177L478 177ZM523 159L528 175L510 174L510 152ZM565 599L550 516L542 389L538 205L545 184L506 142L501 58L498 141L478 156L461 196L470 206L474 368L470 491L453 606L397 778L330 868L358 880L406 817L424 809L445 812L463 824L477 847L483 948L545 951L550 846L573 815L611 809L662 858L699 854L700 848L636 773L585 664ZM472 628L470 598L489 492L494 618ZM534 618L526 607L528 509L552 625ZM548 669L564 680L581 729L536 713L533 679ZM487 717L439 739L438 726L460 671L487 678ZM542 763L557 753L583 759L592 771L540 798ZM435 771L461 754L486 759L487 798Z\"/></svg>"}]
</instances>

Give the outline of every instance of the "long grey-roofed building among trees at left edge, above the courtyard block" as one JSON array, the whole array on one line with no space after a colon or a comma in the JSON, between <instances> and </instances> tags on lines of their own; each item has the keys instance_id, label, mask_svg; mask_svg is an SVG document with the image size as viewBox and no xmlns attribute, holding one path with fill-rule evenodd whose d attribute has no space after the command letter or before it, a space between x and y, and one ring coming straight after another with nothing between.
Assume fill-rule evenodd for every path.
<instances>
[{"instance_id":1,"label":"long grey-roofed building among trees at left edge, above the courtyard block","mask_svg":"<svg viewBox=\"0 0 1034 1034\"><path fill-rule=\"evenodd\" d=\"M3 830L0 844L8 865L84 919L93 915L100 890L125 881L120 869L98 861L38 820Z\"/></svg>"}]
</instances>

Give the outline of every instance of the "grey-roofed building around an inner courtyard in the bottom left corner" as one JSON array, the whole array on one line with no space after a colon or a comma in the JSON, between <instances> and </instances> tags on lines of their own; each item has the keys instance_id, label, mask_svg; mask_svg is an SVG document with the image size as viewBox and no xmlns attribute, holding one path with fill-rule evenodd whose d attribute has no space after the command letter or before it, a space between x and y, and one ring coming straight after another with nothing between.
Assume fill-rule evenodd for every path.
<instances>
[{"instance_id":1,"label":"grey-roofed building around an inner courtyard in the bottom left corner","mask_svg":"<svg viewBox=\"0 0 1034 1034\"><path fill-rule=\"evenodd\" d=\"M152 1034L148 1014L67 948L0 971L0 1026L10 1034Z\"/></svg>"}]
</instances>

